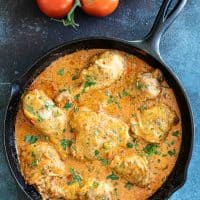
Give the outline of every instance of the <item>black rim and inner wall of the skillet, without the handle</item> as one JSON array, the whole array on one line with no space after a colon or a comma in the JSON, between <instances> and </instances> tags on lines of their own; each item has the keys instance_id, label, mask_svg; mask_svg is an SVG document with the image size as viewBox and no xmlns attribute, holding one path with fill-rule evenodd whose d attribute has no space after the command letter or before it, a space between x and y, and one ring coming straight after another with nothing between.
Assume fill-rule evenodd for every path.
<instances>
[{"instance_id":1,"label":"black rim and inner wall of the skillet, without the handle","mask_svg":"<svg viewBox=\"0 0 200 200\"><path fill-rule=\"evenodd\" d=\"M5 151L10 165L11 172L18 182L21 189L27 194L30 199L41 199L34 187L26 185L19 167L17 158L16 144L15 144L15 118L18 111L18 104L21 94L32 83L49 64L58 57L70 54L81 49L104 48L117 49L133 55L136 55L146 61L155 68L161 69L166 81L173 88L182 116L182 144L180 154L178 156L176 165L168 179L164 182L161 188L150 198L153 200L168 199L169 196L181 187L186 179L186 172L193 141L193 118L187 97L183 88L181 87L176 76L163 63L156 60L153 56L147 54L145 51L134 47L132 44L121 40L93 38L74 41L66 43L55 49L49 51L45 56L37 60L20 79L18 79L12 86L11 98L8 105L7 115L5 119Z\"/></svg>"}]
</instances>

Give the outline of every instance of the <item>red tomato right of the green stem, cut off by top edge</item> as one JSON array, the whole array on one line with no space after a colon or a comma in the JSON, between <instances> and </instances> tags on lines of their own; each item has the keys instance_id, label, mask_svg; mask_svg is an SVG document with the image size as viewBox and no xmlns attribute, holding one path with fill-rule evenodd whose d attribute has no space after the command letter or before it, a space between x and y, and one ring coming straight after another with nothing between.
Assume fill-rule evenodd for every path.
<instances>
[{"instance_id":1,"label":"red tomato right of the green stem, cut off by top edge","mask_svg":"<svg viewBox=\"0 0 200 200\"><path fill-rule=\"evenodd\" d=\"M89 15L104 17L110 15L119 5L119 0L81 0L82 9Z\"/></svg>"}]
</instances>

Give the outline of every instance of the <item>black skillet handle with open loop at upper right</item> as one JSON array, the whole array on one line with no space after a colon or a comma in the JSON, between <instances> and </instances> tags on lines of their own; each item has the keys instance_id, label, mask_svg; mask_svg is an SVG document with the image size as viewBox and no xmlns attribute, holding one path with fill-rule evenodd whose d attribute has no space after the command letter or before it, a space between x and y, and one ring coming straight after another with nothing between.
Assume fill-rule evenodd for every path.
<instances>
[{"instance_id":1,"label":"black skillet handle with open loop at upper right","mask_svg":"<svg viewBox=\"0 0 200 200\"><path fill-rule=\"evenodd\" d=\"M173 6L173 9L169 11L169 7L173 2L177 0L164 0L162 6L158 12L156 20L153 24L151 31L143 39L146 48L157 54L160 57L160 38L171 23L176 19L181 10L184 8L187 0L178 0L178 2Z\"/></svg>"}]
</instances>

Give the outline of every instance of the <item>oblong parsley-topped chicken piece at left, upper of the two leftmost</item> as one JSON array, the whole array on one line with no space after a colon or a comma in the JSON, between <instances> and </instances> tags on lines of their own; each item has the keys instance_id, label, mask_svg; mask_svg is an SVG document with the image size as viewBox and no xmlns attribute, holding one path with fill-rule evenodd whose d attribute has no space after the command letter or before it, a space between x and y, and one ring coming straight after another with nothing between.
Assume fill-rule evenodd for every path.
<instances>
[{"instance_id":1,"label":"oblong parsley-topped chicken piece at left, upper of the two leftmost","mask_svg":"<svg viewBox=\"0 0 200 200\"><path fill-rule=\"evenodd\" d=\"M47 136L59 135L66 123L65 112L41 90L29 91L23 98L25 116Z\"/></svg>"}]
</instances>

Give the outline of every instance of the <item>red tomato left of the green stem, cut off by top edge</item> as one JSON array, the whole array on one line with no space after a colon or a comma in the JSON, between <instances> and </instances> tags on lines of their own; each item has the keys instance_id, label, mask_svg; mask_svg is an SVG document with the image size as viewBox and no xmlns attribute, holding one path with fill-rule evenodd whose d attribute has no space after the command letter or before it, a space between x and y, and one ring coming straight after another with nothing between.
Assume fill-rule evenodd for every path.
<instances>
[{"instance_id":1,"label":"red tomato left of the green stem, cut off by top edge","mask_svg":"<svg viewBox=\"0 0 200 200\"><path fill-rule=\"evenodd\" d=\"M53 18L65 17L73 6L74 0L36 0L40 10Z\"/></svg>"}]
</instances>

